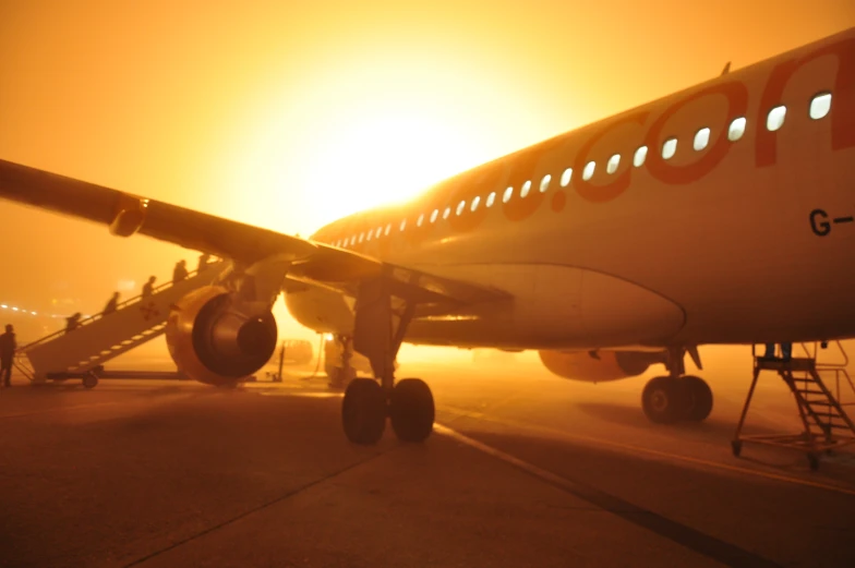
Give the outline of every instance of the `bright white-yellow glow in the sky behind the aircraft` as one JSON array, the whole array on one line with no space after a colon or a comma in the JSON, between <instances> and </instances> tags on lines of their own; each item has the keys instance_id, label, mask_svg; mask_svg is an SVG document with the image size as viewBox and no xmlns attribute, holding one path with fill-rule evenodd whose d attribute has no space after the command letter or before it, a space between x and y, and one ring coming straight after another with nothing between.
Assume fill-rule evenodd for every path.
<instances>
[{"instance_id":1,"label":"bright white-yellow glow in the sky behind the aircraft","mask_svg":"<svg viewBox=\"0 0 855 568\"><path fill-rule=\"evenodd\" d=\"M454 55L363 53L318 70L248 106L222 154L230 185L249 189L226 196L233 218L308 235L537 142L532 123L547 116L531 120L528 92Z\"/></svg>"}]
</instances>

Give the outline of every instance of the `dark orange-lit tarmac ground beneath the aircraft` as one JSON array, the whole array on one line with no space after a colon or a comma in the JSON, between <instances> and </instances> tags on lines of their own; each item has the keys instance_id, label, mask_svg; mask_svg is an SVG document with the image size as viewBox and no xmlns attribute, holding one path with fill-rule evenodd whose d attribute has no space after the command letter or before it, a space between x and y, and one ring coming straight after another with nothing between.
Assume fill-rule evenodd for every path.
<instances>
[{"instance_id":1,"label":"dark orange-lit tarmac ground beneath the aircraft","mask_svg":"<svg viewBox=\"0 0 855 568\"><path fill-rule=\"evenodd\" d=\"M750 379L705 373L700 424L654 425L646 378L527 361L404 364L434 434L349 444L311 366L222 390L164 379L0 390L3 567L855 566L855 452L730 439ZM755 433L797 431L780 379Z\"/></svg>"}]
</instances>

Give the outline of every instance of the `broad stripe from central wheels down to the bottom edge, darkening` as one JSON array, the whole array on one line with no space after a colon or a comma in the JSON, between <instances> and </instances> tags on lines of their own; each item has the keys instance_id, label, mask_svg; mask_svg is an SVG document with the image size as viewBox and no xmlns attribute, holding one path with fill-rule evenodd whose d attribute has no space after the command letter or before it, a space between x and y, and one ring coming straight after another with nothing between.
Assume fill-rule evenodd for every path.
<instances>
[{"instance_id":1,"label":"broad stripe from central wheels down to the bottom edge, darkening","mask_svg":"<svg viewBox=\"0 0 855 568\"><path fill-rule=\"evenodd\" d=\"M659 534L662 537L669 539L682 546L685 546L698 554L708 558L712 558L725 566L731 567L778 567L780 565L758 556L748 551L744 551L738 546L721 541L714 536L702 533L686 524L681 524L676 521L662 517L651 510L633 505L629 501L602 492L589 485L583 485L579 482L562 478L532 463L516 458L509 454L505 454L492 446L487 446L477 439L470 438L459 432L456 432L448 426L442 424L434 424L434 431L448 436L457 442L466 444L471 448L482 451L489 456L499 459L526 473L534 475L540 480L557 487L562 491L569 493L582 500L600 507L622 519L631 522L638 527Z\"/></svg>"}]
</instances>

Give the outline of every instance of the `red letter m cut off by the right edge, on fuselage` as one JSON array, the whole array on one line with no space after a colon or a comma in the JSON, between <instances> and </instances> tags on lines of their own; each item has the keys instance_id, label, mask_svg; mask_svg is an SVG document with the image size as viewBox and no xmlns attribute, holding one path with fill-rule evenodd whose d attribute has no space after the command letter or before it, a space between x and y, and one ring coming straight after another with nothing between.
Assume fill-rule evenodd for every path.
<instances>
[{"instance_id":1,"label":"red letter m cut off by the right edge, on fuselage","mask_svg":"<svg viewBox=\"0 0 855 568\"><path fill-rule=\"evenodd\" d=\"M791 59L775 65L760 97L760 120L766 112L781 104L786 83L796 69L823 56L838 57L838 74L834 78L834 98L831 101L831 149L839 150L855 146L855 37L848 37L800 59ZM757 129L755 138L755 164L758 168L773 165L778 160L776 132Z\"/></svg>"}]
</instances>

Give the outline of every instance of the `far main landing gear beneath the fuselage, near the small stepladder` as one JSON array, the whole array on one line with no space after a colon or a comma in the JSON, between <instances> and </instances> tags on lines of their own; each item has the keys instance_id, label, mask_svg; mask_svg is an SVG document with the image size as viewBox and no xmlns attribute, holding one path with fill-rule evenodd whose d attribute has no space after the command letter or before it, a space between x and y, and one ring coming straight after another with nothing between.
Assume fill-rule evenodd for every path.
<instances>
[{"instance_id":1,"label":"far main landing gear beneath the fuselage, near the small stepladder","mask_svg":"<svg viewBox=\"0 0 855 568\"><path fill-rule=\"evenodd\" d=\"M712 390L702 378L684 375L684 354L683 349L669 350L669 375L651 378L641 392L641 408L651 422L700 422L712 411Z\"/></svg>"}]
</instances>

